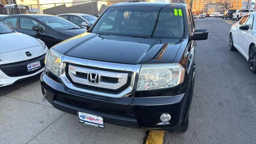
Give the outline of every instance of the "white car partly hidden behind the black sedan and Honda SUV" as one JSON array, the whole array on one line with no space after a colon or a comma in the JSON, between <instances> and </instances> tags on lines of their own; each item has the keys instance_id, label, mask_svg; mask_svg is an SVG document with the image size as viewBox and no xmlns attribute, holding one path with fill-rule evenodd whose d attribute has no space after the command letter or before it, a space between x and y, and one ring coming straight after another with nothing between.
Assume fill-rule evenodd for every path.
<instances>
[{"instance_id":1,"label":"white car partly hidden behind the black sedan and Honda SUV","mask_svg":"<svg viewBox=\"0 0 256 144\"><path fill-rule=\"evenodd\" d=\"M97 20L96 16L92 16L90 14L58 14L60 16L74 24L86 28L88 23L94 23Z\"/></svg>"}]
</instances>

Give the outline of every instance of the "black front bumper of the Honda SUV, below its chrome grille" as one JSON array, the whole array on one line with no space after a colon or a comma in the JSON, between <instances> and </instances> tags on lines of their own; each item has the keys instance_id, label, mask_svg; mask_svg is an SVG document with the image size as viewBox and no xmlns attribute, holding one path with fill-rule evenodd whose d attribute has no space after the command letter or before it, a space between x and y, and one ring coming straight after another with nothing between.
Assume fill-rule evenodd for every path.
<instances>
[{"instance_id":1,"label":"black front bumper of the Honda SUV, below its chrome grille","mask_svg":"<svg viewBox=\"0 0 256 144\"><path fill-rule=\"evenodd\" d=\"M70 91L44 73L40 80L44 97L55 108L74 115L78 111L96 114L102 116L105 123L131 128L175 131L186 117L186 98L190 94L109 100ZM163 113L171 115L170 124L157 125Z\"/></svg>"}]
</instances>

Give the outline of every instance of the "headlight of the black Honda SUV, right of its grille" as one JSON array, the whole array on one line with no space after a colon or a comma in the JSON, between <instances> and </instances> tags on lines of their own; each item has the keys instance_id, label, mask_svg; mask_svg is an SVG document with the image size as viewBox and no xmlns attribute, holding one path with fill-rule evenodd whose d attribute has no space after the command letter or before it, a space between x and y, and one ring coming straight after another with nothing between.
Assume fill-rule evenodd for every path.
<instances>
[{"instance_id":1,"label":"headlight of the black Honda SUV, right of its grille","mask_svg":"<svg viewBox=\"0 0 256 144\"><path fill-rule=\"evenodd\" d=\"M171 88L182 83L185 70L178 64L142 64L137 90Z\"/></svg>"}]
</instances>

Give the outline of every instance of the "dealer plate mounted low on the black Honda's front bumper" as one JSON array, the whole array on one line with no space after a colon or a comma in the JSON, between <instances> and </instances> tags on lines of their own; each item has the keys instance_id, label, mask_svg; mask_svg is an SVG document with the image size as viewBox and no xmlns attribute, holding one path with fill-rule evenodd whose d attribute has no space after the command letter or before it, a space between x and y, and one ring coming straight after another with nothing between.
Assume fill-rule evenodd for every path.
<instances>
[{"instance_id":1,"label":"dealer plate mounted low on the black Honda's front bumper","mask_svg":"<svg viewBox=\"0 0 256 144\"><path fill-rule=\"evenodd\" d=\"M78 121L98 128L104 128L103 118L86 112L78 112Z\"/></svg>"}]
</instances>

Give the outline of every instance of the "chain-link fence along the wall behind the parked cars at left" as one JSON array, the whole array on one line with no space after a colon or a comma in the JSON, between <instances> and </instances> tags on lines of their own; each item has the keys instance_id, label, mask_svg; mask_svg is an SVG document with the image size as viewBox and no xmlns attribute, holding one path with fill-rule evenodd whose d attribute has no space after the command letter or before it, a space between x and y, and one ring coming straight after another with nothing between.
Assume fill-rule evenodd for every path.
<instances>
[{"instance_id":1,"label":"chain-link fence along the wall behind the parked cars at left","mask_svg":"<svg viewBox=\"0 0 256 144\"><path fill-rule=\"evenodd\" d=\"M27 6L15 6L0 8L0 14L101 14L108 6L115 3L128 2L128 0L84 0L80 2L31 4Z\"/></svg>"}]
</instances>

